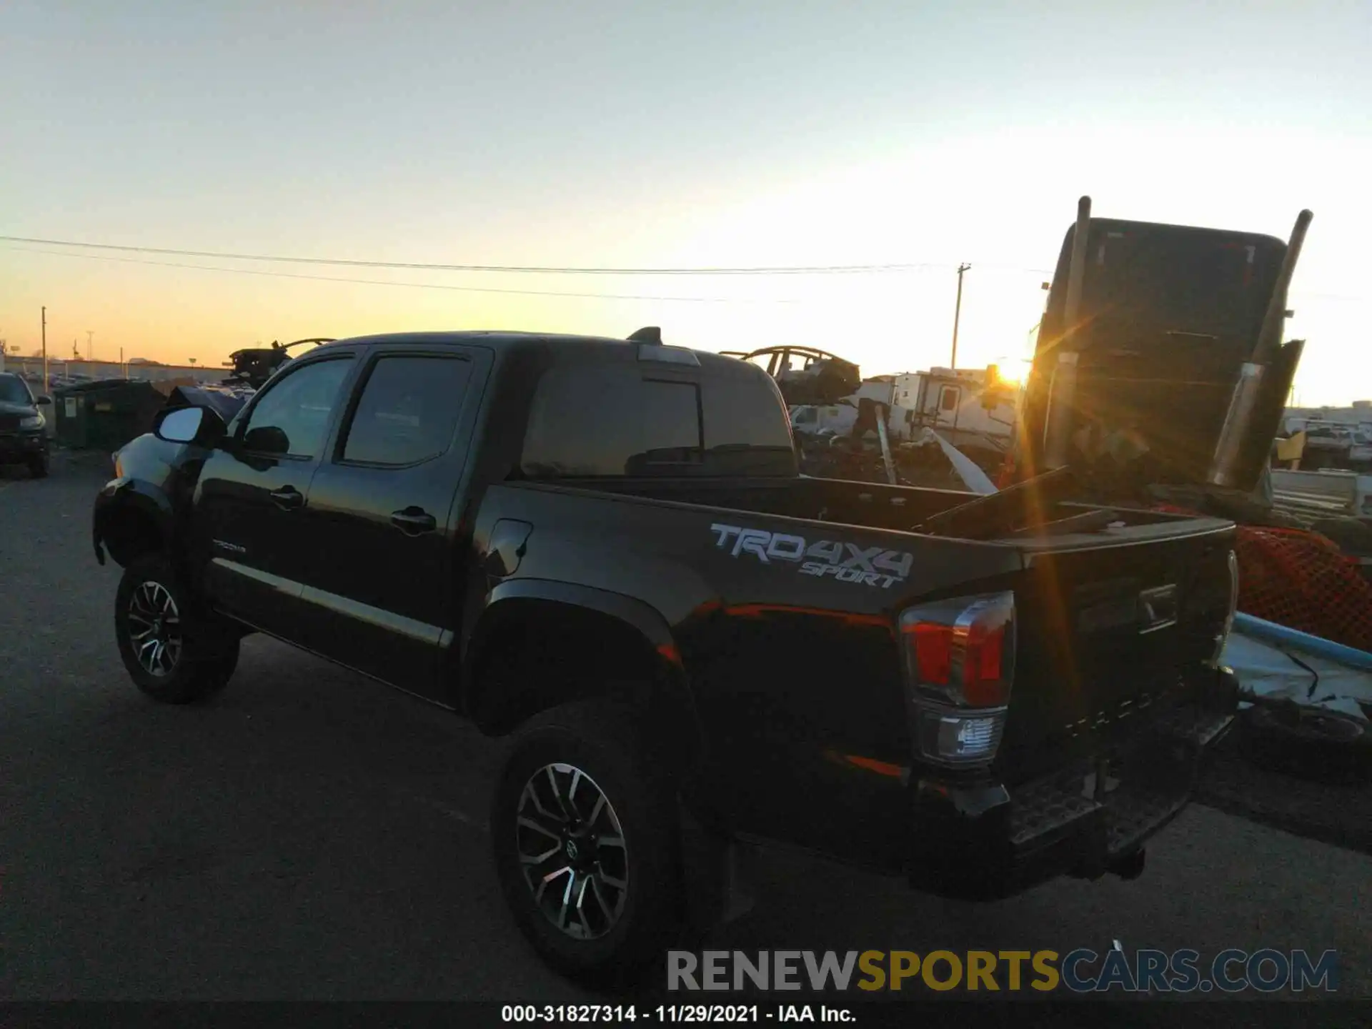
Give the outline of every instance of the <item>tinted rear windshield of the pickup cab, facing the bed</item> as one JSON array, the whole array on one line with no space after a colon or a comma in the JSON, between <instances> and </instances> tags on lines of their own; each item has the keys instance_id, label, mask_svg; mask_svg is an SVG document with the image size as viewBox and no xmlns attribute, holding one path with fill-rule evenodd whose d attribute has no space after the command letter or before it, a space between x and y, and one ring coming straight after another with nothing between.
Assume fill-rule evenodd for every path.
<instances>
[{"instance_id":1,"label":"tinted rear windshield of the pickup cab, facing the bed","mask_svg":"<svg viewBox=\"0 0 1372 1029\"><path fill-rule=\"evenodd\" d=\"M624 365L554 368L530 412L530 477L794 475L786 410L767 380L657 377Z\"/></svg>"}]
</instances>

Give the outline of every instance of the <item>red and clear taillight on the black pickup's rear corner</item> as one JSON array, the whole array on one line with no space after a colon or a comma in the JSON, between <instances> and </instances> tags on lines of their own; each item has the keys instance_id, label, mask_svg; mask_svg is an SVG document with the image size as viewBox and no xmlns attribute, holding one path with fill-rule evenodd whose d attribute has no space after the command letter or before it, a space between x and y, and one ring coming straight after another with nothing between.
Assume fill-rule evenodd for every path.
<instances>
[{"instance_id":1,"label":"red and clear taillight on the black pickup's rear corner","mask_svg":"<svg viewBox=\"0 0 1372 1029\"><path fill-rule=\"evenodd\" d=\"M947 764L995 757L1014 682L1014 594L910 608L900 638L919 756Z\"/></svg>"}]
</instances>

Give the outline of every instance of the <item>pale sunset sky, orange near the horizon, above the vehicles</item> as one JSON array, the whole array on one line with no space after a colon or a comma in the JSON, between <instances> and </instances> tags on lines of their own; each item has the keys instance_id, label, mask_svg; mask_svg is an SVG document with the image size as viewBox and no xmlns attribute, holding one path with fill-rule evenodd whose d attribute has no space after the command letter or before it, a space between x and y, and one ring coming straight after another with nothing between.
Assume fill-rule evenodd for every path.
<instances>
[{"instance_id":1,"label":"pale sunset sky, orange near the horizon, above the vehicles","mask_svg":"<svg viewBox=\"0 0 1372 1029\"><path fill-rule=\"evenodd\" d=\"M0 338L23 353L47 305L49 350L84 353L92 331L97 358L654 324L708 350L819 346L874 375L948 362L969 262L959 365L1008 364L1089 193L1102 217L1281 237L1310 207L1297 395L1372 398L1367 0L7 0L0 95L3 236L414 263L922 265L509 274L0 243Z\"/></svg>"}]
</instances>

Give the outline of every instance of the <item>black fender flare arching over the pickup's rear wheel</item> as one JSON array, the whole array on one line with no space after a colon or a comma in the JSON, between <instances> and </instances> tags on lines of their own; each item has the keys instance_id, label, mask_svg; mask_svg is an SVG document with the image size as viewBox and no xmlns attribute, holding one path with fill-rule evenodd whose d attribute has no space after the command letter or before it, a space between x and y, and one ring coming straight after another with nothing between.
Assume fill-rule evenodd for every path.
<instances>
[{"instance_id":1,"label":"black fender flare arching over the pickup's rear wheel","mask_svg":"<svg viewBox=\"0 0 1372 1029\"><path fill-rule=\"evenodd\" d=\"M690 761L702 756L704 726L667 619L656 608L637 597L594 586L554 579L510 579L497 584L487 594L486 605L476 617L472 631L462 641L462 674L460 676L462 689L461 696L456 698L458 711L466 718L473 715L469 701L475 696L472 687L476 683L484 641L499 624L504 615L502 608L525 600L593 611L615 619L639 635L657 654L659 681L656 686L660 689L660 700L665 704L664 713L671 719L672 731L679 734L678 738L685 746L683 756Z\"/></svg>"}]
</instances>

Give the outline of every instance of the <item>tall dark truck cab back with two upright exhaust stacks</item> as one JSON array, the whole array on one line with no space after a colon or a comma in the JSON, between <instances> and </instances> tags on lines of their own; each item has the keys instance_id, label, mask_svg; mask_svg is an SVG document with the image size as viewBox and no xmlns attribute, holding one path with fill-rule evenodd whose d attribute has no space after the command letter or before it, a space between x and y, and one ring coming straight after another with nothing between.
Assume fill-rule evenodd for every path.
<instances>
[{"instance_id":1,"label":"tall dark truck cab back with two upright exhaust stacks","mask_svg":"<svg viewBox=\"0 0 1372 1029\"><path fill-rule=\"evenodd\" d=\"M1283 328L1310 218L1301 211L1283 241L1093 218L1083 198L1039 332L1014 477L1070 464L1111 494L1255 491L1303 347Z\"/></svg>"}]
</instances>

